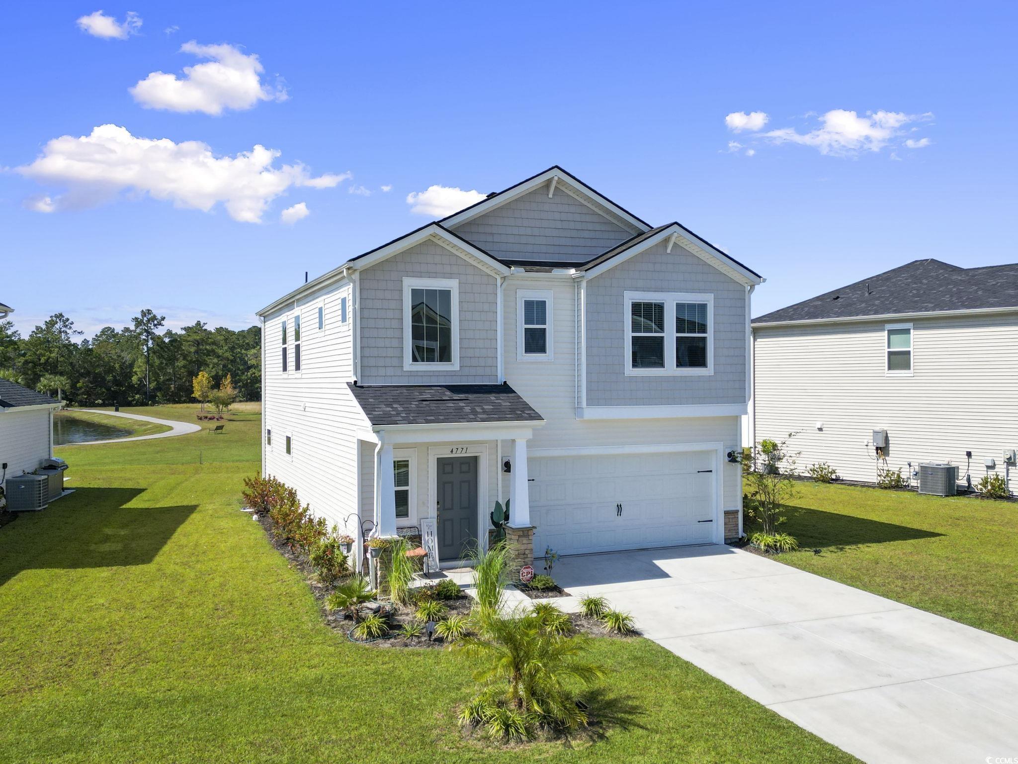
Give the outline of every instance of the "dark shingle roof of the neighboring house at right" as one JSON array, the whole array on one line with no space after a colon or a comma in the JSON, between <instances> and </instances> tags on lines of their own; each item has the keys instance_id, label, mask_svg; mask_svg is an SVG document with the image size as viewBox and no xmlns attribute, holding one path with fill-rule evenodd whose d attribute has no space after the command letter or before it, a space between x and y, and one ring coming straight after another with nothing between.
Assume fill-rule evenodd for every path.
<instances>
[{"instance_id":1,"label":"dark shingle roof of the neighboring house at right","mask_svg":"<svg viewBox=\"0 0 1018 764\"><path fill-rule=\"evenodd\" d=\"M913 260L754 318L753 325L985 308L1018 308L1018 263L960 268L940 260Z\"/></svg>"}]
</instances>

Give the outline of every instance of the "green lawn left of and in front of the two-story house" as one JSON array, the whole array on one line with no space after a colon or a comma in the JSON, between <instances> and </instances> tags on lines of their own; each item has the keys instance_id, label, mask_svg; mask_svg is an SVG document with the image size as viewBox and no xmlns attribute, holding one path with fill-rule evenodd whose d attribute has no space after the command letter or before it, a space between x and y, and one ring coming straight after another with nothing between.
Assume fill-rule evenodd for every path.
<instances>
[{"instance_id":1,"label":"green lawn left of and in front of the two-story house","mask_svg":"<svg viewBox=\"0 0 1018 764\"><path fill-rule=\"evenodd\" d=\"M639 709L607 739L463 742L463 658L332 632L238 511L260 433L243 408L224 435L60 449L76 492L0 528L0 761L854 761L639 639L597 642L609 697Z\"/></svg>"}]
</instances>

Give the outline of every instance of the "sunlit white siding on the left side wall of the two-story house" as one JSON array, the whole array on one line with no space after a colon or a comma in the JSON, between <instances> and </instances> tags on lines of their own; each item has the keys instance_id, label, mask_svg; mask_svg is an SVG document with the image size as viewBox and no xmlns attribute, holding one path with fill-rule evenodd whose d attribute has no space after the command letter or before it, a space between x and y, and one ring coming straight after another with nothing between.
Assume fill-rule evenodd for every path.
<instances>
[{"instance_id":1,"label":"sunlit white siding on the left side wall of the two-story house","mask_svg":"<svg viewBox=\"0 0 1018 764\"><path fill-rule=\"evenodd\" d=\"M353 380L353 322L341 321L341 301L351 305L348 282L297 299L266 317L266 363L263 370L263 428L272 430L272 445L262 433L263 474L272 475L297 489L301 503L310 505L329 524L343 527L343 519L356 510L355 430L366 423L346 383ZM324 328L318 328L318 309ZM293 346L293 316L300 322L300 372L280 368L282 332L287 319ZM349 319L349 313L348 313ZM292 453L286 453L286 438ZM352 533L353 521L348 525Z\"/></svg>"}]
</instances>

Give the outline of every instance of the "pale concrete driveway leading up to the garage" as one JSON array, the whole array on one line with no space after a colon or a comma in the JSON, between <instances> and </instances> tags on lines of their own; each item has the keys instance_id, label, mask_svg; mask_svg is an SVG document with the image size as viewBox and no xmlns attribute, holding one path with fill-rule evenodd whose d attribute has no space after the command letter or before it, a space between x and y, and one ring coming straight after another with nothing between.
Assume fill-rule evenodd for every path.
<instances>
[{"instance_id":1,"label":"pale concrete driveway leading up to the garage","mask_svg":"<svg viewBox=\"0 0 1018 764\"><path fill-rule=\"evenodd\" d=\"M864 761L1018 762L1018 642L724 546L566 557L555 579Z\"/></svg>"}]
</instances>

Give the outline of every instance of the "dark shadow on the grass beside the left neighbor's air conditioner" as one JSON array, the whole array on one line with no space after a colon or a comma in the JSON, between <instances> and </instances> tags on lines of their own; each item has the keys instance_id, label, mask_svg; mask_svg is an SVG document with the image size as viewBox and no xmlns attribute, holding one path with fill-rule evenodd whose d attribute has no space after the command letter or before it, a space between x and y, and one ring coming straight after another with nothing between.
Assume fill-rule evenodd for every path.
<instances>
[{"instance_id":1,"label":"dark shadow on the grass beside the left neighbor's air conditioner","mask_svg":"<svg viewBox=\"0 0 1018 764\"><path fill-rule=\"evenodd\" d=\"M78 488L0 530L0 586L21 570L145 565L196 505L128 506L144 490Z\"/></svg>"}]
</instances>

